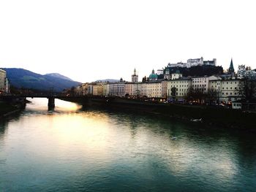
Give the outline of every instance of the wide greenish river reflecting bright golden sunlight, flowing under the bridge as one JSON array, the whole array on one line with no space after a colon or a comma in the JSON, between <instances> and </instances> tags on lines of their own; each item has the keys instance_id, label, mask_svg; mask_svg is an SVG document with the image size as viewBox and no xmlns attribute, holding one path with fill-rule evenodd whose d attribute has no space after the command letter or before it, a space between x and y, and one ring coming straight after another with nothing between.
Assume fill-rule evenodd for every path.
<instances>
[{"instance_id":1,"label":"wide greenish river reflecting bright golden sunlight, flowing under the bridge","mask_svg":"<svg viewBox=\"0 0 256 192\"><path fill-rule=\"evenodd\" d=\"M256 190L255 134L29 100L0 120L0 191Z\"/></svg>"}]
</instances>

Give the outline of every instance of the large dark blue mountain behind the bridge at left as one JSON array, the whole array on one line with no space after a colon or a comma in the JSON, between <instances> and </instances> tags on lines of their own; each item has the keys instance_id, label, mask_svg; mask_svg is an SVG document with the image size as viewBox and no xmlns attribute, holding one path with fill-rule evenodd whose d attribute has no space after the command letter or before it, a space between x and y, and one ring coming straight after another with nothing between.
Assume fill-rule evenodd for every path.
<instances>
[{"instance_id":1,"label":"large dark blue mountain behind the bridge at left","mask_svg":"<svg viewBox=\"0 0 256 192\"><path fill-rule=\"evenodd\" d=\"M71 88L80 84L80 82L64 79L64 76L61 74L62 77L54 77L54 75L37 74L26 69L3 69L7 72L10 84L17 88L33 88L44 91L53 88L53 91L63 91L65 88Z\"/></svg>"}]
</instances>

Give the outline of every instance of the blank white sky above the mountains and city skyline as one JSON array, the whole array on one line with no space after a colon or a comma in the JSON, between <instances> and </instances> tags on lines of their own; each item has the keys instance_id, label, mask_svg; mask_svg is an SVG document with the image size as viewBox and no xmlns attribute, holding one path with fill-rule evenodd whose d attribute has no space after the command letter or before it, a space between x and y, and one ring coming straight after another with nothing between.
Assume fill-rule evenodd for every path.
<instances>
[{"instance_id":1,"label":"blank white sky above the mountains and city skyline","mask_svg":"<svg viewBox=\"0 0 256 192\"><path fill-rule=\"evenodd\" d=\"M256 68L256 1L1 1L0 67L139 80L188 58Z\"/></svg>"}]
</instances>

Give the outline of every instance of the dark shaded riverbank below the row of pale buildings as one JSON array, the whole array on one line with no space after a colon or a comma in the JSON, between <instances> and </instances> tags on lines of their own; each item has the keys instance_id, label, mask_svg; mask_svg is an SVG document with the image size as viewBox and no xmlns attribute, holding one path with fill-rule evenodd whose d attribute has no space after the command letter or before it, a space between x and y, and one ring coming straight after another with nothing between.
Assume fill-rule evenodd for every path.
<instances>
[{"instance_id":1,"label":"dark shaded riverbank below the row of pale buildings","mask_svg":"<svg viewBox=\"0 0 256 192\"><path fill-rule=\"evenodd\" d=\"M164 118L175 118L205 123L219 128L235 128L256 131L256 113L230 110L219 107L190 106L184 104L159 104L121 98L67 98L83 106L94 106L112 110L148 113Z\"/></svg>"}]
</instances>

